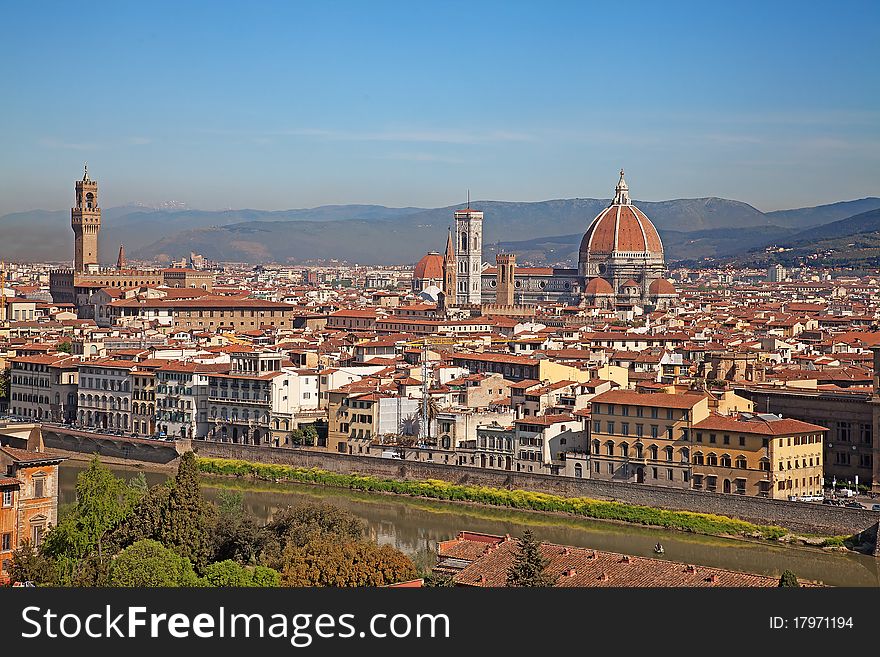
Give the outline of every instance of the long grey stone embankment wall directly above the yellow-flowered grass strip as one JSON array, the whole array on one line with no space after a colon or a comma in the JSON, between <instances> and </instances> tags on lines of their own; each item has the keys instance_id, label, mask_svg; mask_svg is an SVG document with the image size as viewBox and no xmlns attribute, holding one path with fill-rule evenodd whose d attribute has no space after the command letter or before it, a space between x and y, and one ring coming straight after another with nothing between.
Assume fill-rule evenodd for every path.
<instances>
[{"instance_id":1,"label":"long grey stone embankment wall directly above the yellow-flowered grass strip","mask_svg":"<svg viewBox=\"0 0 880 657\"><path fill-rule=\"evenodd\" d=\"M761 525L781 525L798 532L856 534L876 523L880 514L805 502L769 500L705 491L677 490L645 484L593 481L544 474L484 470L426 462L324 453L303 449L264 448L193 441L200 456L320 468L341 474L367 474L394 479L440 479L456 484L492 486L641 504L676 511L696 511L741 518Z\"/></svg>"}]
</instances>

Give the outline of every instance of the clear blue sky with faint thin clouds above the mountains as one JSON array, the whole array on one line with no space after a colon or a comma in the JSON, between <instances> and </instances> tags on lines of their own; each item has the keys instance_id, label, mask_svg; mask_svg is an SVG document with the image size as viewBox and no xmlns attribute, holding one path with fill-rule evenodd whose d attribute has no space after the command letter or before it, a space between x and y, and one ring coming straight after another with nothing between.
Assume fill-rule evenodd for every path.
<instances>
[{"instance_id":1,"label":"clear blue sky with faint thin clouds above the mountains","mask_svg":"<svg viewBox=\"0 0 880 657\"><path fill-rule=\"evenodd\" d=\"M0 213L880 195L880 2L16 2Z\"/></svg>"}]
</instances>

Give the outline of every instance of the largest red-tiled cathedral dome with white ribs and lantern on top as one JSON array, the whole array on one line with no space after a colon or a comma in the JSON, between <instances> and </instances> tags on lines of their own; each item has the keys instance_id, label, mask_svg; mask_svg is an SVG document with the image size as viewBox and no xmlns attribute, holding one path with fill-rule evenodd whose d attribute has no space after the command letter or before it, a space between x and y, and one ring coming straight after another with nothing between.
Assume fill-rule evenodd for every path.
<instances>
[{"instance_id":1,"label":"largest red-tiled cathedral dome with white ribs and lantern on top","mask_svg":"<svg viewBox=\"0 0 880 657\"><path fill-rule=\"evenodd\" d=\"M580 260L614 253L662 257L663 244L654 224L632 204L620 170L614 200L593 219L581 240Z\"/></svg>"}]
</instances>

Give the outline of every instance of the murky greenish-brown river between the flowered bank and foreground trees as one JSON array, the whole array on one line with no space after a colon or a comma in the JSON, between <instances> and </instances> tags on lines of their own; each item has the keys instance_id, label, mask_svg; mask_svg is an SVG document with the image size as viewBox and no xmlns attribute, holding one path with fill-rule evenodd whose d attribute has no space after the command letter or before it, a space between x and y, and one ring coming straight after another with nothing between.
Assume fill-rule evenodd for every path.
<instances>
[{"instance_id":1,"label":"murky greenish-brown river between the flowered bank and foreground trees","mask_svg":"<svg viewBox=\"0 0 880 657\"><path fill-rule=\"evenodd\" d=\"M77 473L84 463L61 466L60 504L74 501ZM113 467L117 476L133 477L135 468ZM150 485L166 477L144 472ZM278 509L304 502L327 502L363 518L369 535L408 554L421 567L434 563L438 541L462 530L519 536L531 528L536 537L552 543L578 545L651 557L658 541L664 559L778 576L788 568L798 577L832 586L880 586L880 559L814 548L735 541L649 527L580 520L529 511L483 508L433 500L392 497L301 484L272 484L226 478L204 481L207 497L223 489L240 491L246 508L263 521Z\"/></svg>"}]
</instances>

